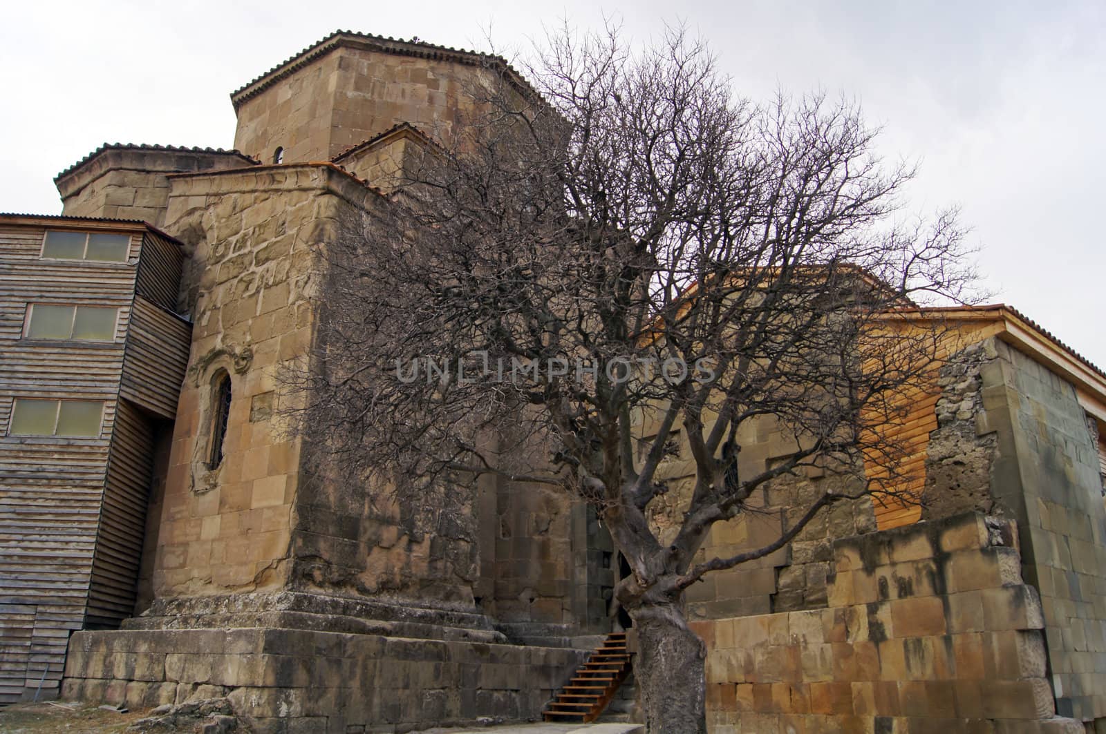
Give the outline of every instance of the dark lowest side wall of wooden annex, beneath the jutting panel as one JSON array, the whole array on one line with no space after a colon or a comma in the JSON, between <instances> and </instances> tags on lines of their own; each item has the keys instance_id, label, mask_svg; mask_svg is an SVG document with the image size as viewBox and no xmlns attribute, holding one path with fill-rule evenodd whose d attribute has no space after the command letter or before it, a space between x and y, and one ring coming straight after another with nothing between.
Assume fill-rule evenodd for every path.
<instances>
[{"instance_id":1,"label":"dark lowest side wall of wooden annex, beneath the jutting panel","mask_svg":"<svg viewBox=\"0 0 1106 734\"><path fill-rule=\"evenodd\" d=\"M118 627L134 612L153 457L150 419L119 400L92 564L87 628Z\"/></svg>"}]
</instances>

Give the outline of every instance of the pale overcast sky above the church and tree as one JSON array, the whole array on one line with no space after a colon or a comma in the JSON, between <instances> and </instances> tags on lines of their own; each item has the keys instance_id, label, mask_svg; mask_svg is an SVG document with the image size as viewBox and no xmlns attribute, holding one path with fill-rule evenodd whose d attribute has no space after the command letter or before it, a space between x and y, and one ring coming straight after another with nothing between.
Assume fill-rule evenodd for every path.
<instances>
[{"instance_id":1,"label":"pale overcast sky above the church and tree","mask_svg":"<svg viewBox=\"0 0 1106 734\"><path fill-rule=\"evenodd\" d=\"M679 12L680 15L674 13ZM230 147L229 93L336 29L508 55L567 18L682 19L739 93L855 96L920 210L958 203L994 301L1106 367L1106 2L20 2L0 10L0 211L59 213L104 141Z\"/></svg>"}]
</instances>

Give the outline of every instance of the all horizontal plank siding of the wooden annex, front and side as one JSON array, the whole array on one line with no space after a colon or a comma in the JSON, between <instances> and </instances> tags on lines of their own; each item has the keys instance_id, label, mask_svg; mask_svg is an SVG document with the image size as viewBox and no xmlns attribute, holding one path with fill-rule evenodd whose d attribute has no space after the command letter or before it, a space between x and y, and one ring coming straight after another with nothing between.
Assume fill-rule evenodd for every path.
<instances>
[{"instance_id":1,"label":"all horizontal plank siding of the wooden annex, front and side","mask_svg":"<svg viewBox=\"0 0 1106 734\"><path fill-rule=\"evenodd\" d=\"M48 229L128 233L128 261L43 260ZM117 625L131 611L128 594L133 605L156 420L119 397L133 316L140 312L146 332L171 319L167 340L178 340L182 329L187 335L187 324L135 295L147 242L157 242L152 251L160 253L147 269L147 292L164 303L179 260L163 252L171 241L145 224L0 217L0 704L33 698L40 685L42 698L54 698L70 633ZM176 290L164 308L175 305ZM23 338L28 304L117 307L115 340ZM136 346L136 363L154 358L139 359L142 352ZM179 348L169 352L166 371L176 375ZM133 381L149 371L136 369ZM175 399L166 408L165 386L131 392L153 413L175 412ZM143 397L147 392L153 397ZM17 398L102 400L101 433L9 436Z\"/></svg>"}]
</instances>

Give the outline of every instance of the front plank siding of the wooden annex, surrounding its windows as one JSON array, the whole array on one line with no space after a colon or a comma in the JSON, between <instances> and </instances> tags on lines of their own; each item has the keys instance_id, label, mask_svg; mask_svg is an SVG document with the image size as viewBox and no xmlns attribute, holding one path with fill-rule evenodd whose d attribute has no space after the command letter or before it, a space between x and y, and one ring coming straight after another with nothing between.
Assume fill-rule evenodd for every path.
<instances>
[{"instance_id":1,"label":"front plank siding of the wooden annex, surrounding its windows","mask_svg":"<svg viewBox=\"0 0 1106 734\"><path fill-rule=\"evenodd\" d=\"M48 695L56 691L69 635L85 620L97 534L118 536L117 528L133 525L132 487L148 483L148 475L123 478L128 465L121 458L121 476L105 496L142 237L132 235L127 263L41 260L43 234L55 227L0 224L0 703L33 695L40 680ZM23 339L29 303L118 307L116 340ZM19 397L103 400L101 434L8 436ZM131 412L122 408L124 421ZM129 469L140 473L140 462ZM102 514L111 522L98 532ZM133 543L121 547L134 554ZM97 578L128 573L131 562L111 569L112 553L118 555L107 547L101 554Z\"/></svg>"}]
</instances>

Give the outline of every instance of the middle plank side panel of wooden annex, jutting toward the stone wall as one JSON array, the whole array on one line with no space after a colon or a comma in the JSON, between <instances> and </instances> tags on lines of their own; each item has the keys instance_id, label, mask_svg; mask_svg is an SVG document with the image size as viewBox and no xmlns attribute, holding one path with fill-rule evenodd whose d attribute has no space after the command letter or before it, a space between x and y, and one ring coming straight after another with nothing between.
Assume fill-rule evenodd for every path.
<instances>
[{"instance_id":1,"label":"middle plank side panel of wooden annex, jutting toward the stone wall","mask_svg":"<svg viewBox=\"0 0 1106 734\"><path fill-rule=\"evenodd\" d=\"M191 334L188 322L135 297L119 395L158 416L174 418Z\"/></svg>"}]
</instances>

